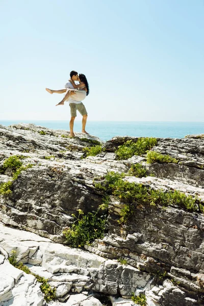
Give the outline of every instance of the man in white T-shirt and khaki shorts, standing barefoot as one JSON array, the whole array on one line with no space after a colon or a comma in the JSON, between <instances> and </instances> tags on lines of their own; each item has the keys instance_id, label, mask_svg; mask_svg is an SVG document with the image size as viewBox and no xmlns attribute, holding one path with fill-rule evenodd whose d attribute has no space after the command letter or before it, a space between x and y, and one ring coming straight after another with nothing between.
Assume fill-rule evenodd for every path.
<instances>
[{"instance_id":1,"label":"man in white T-shirt and khaki shorts, standing barefoot","mask_svg":"<svg viewBox=\"0 0 204 306\"><path fill-rule=\"evenodd\" d=\"M73 82L78 81L79 80L78 72L72 70L70 72L70 78ZM65 84L65 88L74 89L73 85L69 81ZM76 101L70 96L69 106L70 106L70 113L71 113L71 119L70 119L70 122L69 122L70 136L71 137L75 136L74 133L73 133L73 124L74 124L75 117L77 117L77 110L82 115L82 133L88 134L85 130L86 120L87 120L88 115L87 115L86 108L85 108L84 104L82 103L82 101Z\"/></svg>"}]
</instances>

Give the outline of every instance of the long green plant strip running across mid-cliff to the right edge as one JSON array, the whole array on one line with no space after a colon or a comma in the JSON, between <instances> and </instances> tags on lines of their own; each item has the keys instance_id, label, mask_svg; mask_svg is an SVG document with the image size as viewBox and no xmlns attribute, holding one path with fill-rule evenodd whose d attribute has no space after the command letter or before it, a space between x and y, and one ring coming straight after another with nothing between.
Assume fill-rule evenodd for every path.
<instances>
[{"instance_id":1,"label":"long green plant strip running across mid-cliff to the right edge","mask_svg":"<svg viewBox=\"0 0 204 306\"><path fill-rule=\"evenodd\" d=\"M197 196L187 196L181 191L168 191L153 190L145 187L142 184L130 183L124 181L125 174L117 172L109 172L104 180L100 183L95 183L95 187L100 190L104 196L113 195L119 198L124 207L120 212L119 223L127 223L130 217L134 213L133 202L142 205L160 205L167 206L179 206L187 211L200 211L203 212L203 203L198 200Z\"/></svg>"}]
</instances>

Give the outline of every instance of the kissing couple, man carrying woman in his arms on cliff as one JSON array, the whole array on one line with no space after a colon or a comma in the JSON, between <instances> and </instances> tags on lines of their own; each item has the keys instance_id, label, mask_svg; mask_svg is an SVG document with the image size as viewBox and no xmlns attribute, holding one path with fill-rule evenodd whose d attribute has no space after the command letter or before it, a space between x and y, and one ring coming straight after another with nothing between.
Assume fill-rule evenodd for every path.
<instances>
[{"instance_id":1,"label":"kissing couple, man carrying woman in his arms on cliff","mask_svg":"<svg viewBox=\"0 0 204 306\"><path fill-rule=\"evenodd\" d=\"M79 84L75 84L75 81L78 81ZM89 94L89 84L87 82L87 79L84 74L80 73L78 75L77 71L72 70L70 72L70 79L65 84L64 89L60 90L52 90L49 88L46 88L46 91L49 93L65 93L64 98L58 103L56 106L64 105L65 101L69 101L70 106L70 113L71 113L71 119L69 122L70 127L70 137L74 137L73 133L73 123L75 117L77 117L77 110L82 115L82 133L86 133L85 127L86 127L86 120L87 120L87 111L82 103L82 100L85 99L85 97Z\"/></svg>"}]
</instances>

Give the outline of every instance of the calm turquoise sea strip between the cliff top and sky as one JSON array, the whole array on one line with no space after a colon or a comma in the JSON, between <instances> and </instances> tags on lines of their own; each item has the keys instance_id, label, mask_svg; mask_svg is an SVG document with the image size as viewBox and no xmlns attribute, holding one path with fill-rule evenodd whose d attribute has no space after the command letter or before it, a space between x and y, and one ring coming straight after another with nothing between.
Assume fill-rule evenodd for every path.
<instances>
[{"instance_id":1,"label":"calm turquoise sea strip between the cliff top and sky","mask_svg":"<svg viewBox=\"0 0 204 306\"><path fill-rule=\"evenodd\" d=\"M69 131L69 121L0 120L0 124L35 123L54 130ZM81 121L74 122L74 131L81 131ZM188 134L204 134L204 122L150 122L150 121L87 121L86 130L102 140L114 136L183 138Z\"/></svg>"}]
</instances>

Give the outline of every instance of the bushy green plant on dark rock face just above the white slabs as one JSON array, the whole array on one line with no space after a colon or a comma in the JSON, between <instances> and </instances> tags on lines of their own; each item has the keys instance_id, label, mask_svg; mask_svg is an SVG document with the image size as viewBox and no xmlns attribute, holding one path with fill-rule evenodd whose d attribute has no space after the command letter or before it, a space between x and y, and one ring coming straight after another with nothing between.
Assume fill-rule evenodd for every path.
<instances>
[{"instance_id":1,"label":"bushy green plant on dark rock face just above the white slabs","mask_svg":"<svg viewBox=\"0 0 204 306\"><path fill-rule=\"evenodd\" d=\"M100 216L98 211L84 215L81 209L78 212L78 217L72 214L75 221L63 232L67 244L71 247L83 247L85 244L90 245L95 239L102 239L107 215Z\"/></svg>"}]
</instances>

